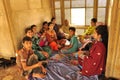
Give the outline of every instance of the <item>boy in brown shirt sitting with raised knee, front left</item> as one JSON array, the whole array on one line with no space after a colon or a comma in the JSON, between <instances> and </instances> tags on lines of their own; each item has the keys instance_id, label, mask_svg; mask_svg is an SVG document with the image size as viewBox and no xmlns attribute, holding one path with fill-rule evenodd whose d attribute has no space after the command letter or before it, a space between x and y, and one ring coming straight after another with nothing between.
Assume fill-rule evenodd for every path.
<instances>
[{"instance_id":1,"label":"boy in brown shirt sitting with raised knee, front left","mask_svg":"<svg viewBox=\"0 0 120 80\"><path fill-rule=\"evenodd\" d=\"M28 78L29 75L37 78L44 78L46 69L42 62L38 62L37 56L32 51L32 40L30 37L24 37L22 40L23 48L18 51L16 63L22 71L22 75Z\"/></svg>"}]
</instances>

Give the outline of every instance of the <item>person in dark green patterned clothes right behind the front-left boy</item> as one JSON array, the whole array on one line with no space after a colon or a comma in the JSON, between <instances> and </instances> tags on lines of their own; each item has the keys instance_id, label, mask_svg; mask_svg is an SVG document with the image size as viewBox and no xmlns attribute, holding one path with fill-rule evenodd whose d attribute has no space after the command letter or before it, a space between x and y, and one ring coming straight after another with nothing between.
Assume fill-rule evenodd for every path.
<instances>
[{"instance_id":1,"label":"person in dark green patterned clothes right behind the front-left boy","mask_svg":"<svg viewBox=\"0 0 120 80\"><path fill-rule=\"evenodd\" d=\"M25 34L26 34L26 36L28 36L32 39L32 49L33 49L34 53L38 56L38 59L44 60L44 59L48 58L49 57L48 53L45 52L41 47L39 47L37 45L37 39L33 39L33 32L31 30L31 28L26 28Z\"/></svg>"}]
</instances>

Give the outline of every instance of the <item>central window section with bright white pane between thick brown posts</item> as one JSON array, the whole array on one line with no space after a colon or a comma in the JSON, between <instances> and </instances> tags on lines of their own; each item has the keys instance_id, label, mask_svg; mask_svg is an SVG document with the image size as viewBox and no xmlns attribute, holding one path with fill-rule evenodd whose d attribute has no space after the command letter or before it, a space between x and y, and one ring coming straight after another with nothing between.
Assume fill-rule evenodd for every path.
<instances>
[{"instance_id":1,"label":"central window section with bright white pane between thick brown posts","mask_svg":"<svg viewBox=\"0 0 120 80\"><path fill-rule=\"evenodd\" d=\"M93 17L93 3L94 0L64 0L65 19L72 25L89 25Z\"/></svg>"}]
</instances>

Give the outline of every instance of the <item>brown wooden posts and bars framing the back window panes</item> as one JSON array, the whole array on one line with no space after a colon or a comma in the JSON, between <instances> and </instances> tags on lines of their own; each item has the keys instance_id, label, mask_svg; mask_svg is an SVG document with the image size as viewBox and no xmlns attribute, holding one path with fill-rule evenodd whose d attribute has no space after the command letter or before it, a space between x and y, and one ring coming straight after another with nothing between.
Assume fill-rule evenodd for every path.
<instances>
[{"instance_id":1,"label":"brown wooden posts and bars framing the back window panes","mask_svg":"<svg viewBox=\"0 0 120 80\"><path fill-rule=\"evenodd\" d=\"M55 1L60 1L60 8L55 8ZM85 0L85 7L72 7L72 0L66 0L66 1L70 1L70 7L68 8L65 8L64 7L64 1L65 0L52 0L52 16L55 16L55 10L56 9L60 9L61 10L61 24L64 23L64 20L65 20L65 9L70 9L70 15L71 15L71 9L72 8L85 8L85 15L86 15L86 8L93 8L93 17L94 18L97 18L97 15L98 15L98 8L105 8L105 24L107 24L108 22L108 10L109 10L109 3L110 1L109 0L106 0L106 7L98 7L98 0L93 0L93 7L88 7L86 6L86 1ZM56 16L55 16L56 17ZM70 16L71 17L71 16ZM71 23L71 20L70 20L70 23ZM77 27L81 26L83 27L83 25L75 25ZM85 26L89 26L89 25L86 25L86 16L85 16Z\"/></svg>"}]
</instances>

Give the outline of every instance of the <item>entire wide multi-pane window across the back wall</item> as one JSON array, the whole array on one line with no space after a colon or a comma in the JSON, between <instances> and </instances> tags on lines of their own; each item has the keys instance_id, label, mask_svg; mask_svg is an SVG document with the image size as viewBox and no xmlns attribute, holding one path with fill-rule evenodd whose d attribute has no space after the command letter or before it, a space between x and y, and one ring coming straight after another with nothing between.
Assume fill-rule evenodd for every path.
<instances>
[{"instance_id":1,"label":"entire wide multi-pane window across the back wall","mask_svg":"<svg viewBox=\"0 0 120 80\"><path fill-rule=\"evenodd\" d=\"M72 25L90 25L90 20L96 17L105 22L107 0L53 0L55 16L58 24L68 19ZM97 5L96 3L97 2Z\"/></svg>"}]
</instances>

